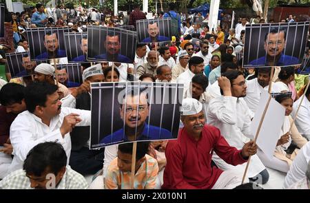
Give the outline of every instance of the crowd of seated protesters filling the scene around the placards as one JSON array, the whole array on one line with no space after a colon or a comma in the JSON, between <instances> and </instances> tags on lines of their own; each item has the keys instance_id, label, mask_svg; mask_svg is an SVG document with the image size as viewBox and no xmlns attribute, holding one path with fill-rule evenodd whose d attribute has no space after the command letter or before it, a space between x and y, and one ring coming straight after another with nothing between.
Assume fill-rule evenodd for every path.
<instances>
[{"instance_id":1,"label":"crowd of seated protesters filling the scene around the placards","mask_svg":"<svg viewBox=\"0 0 310 203\"><path fill-rule=\"evenodd\" d=\"M0 189L130 189L133 143L90 149L90 83L123 81L184 84L178 138L137 142L134 189L234 189L240 187L249 156L246 182L263 187L269 181L267 169L274 169L286 173L283 188L310 189L309 76L300 74L300 66L276 67L274 73L271 67L242 67L245 25L272 19L242 16L230 28L222 13L216 30L210 30L208 16L176 12L170 5L152 18L172 18L176 34L171 40L137 44L130 65L82 63L81 85L69 81L65 70L36 65L28 55L23 63L25 71L34 67L30 76L12 78L6 68L6 80L0 78ZM8 12L14 44L0 47L0 63L6 63L6 52L29 51L29 28L68 26L86 32L88 25L135 26L147 18L138 5L118 17L95 8L40 3L30 12ZM290 15L284 21L298 19ZM281 31L270 32L275 33ZM309 41L306 47L302 70L309 71ZM250 129L269 81L285 108L272 160L251 140ZM139 103L131 111L140 109ZM87 175L94 175L92 182Z\"/></svg>"}]
</instances>

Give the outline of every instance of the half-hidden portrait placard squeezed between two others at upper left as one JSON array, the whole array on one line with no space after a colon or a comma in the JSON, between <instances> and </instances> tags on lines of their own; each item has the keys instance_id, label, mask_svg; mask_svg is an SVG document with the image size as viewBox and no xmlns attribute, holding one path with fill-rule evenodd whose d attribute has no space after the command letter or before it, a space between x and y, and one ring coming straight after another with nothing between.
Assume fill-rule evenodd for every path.
<instances>
[{"instance_id":1,"label":"half-hidden portrait placard squeezed between two others at upper left","mask_svg":"<svg viewBox=\"0 0 310 203\"><path fill-rule=\"evenodd\" d=\"M86 62L87 32L66 32L64 34L65 51L69 63Z\"/></svg>"}]
</instances>

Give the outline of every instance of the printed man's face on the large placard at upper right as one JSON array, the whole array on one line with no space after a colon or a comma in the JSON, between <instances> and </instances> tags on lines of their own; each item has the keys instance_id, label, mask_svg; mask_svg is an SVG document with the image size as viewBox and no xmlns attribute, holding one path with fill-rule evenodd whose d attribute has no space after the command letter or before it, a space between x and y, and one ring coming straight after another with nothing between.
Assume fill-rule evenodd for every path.
<instances>
[{"instance_id":1,"label":"printed man's face on the large placard at upper right","mask_svg":"<svg viewBox=\"0 0 310 203\"><path fill-rule=\"evenodd\" d=\"M285 48L285 33L269 33L264 43L264 48L268 56L275 57L280 55Z\"/></svg>"}]
</instances>

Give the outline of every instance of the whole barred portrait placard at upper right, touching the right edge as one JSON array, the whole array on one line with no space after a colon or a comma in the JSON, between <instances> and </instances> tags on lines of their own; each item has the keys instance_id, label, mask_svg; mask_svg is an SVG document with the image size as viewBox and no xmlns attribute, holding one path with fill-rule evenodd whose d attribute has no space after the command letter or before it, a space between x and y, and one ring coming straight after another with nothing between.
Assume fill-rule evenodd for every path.
<instances>
[{"instance_id":1,"label":"whole barred portrait placard at upper right, touching the right edge","mask_svg":"<svg viewBox=\"0 0 310 203\"><path fill-rule=\"evenodd\" d=\"M309 22L246 25L243 67L300 65Z\"/></svg>"}]
</instances>

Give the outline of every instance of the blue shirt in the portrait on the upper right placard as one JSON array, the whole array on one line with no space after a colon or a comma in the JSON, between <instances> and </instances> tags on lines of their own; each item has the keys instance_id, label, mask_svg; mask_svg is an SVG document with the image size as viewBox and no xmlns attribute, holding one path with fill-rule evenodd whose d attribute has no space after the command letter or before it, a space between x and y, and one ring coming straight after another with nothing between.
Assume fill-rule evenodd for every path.
<instances>
[{"instance_id":1,"label":"blue shirt in the portrait on the upper right placard","mask_svg":"<svg viewBox=\"0 0 310 203\"><path fill-rule=\"evenodd\" d=\"M267 58L266 56L262 56L256 60L253 60L249 63L253 66L269 66L267 65ZM299 64L298 58L294 56L287 56L284 54L281 54L279 61L275 64L276 66L285 66L285 65L297 65Z\"/></svg>"}]
</instances>

